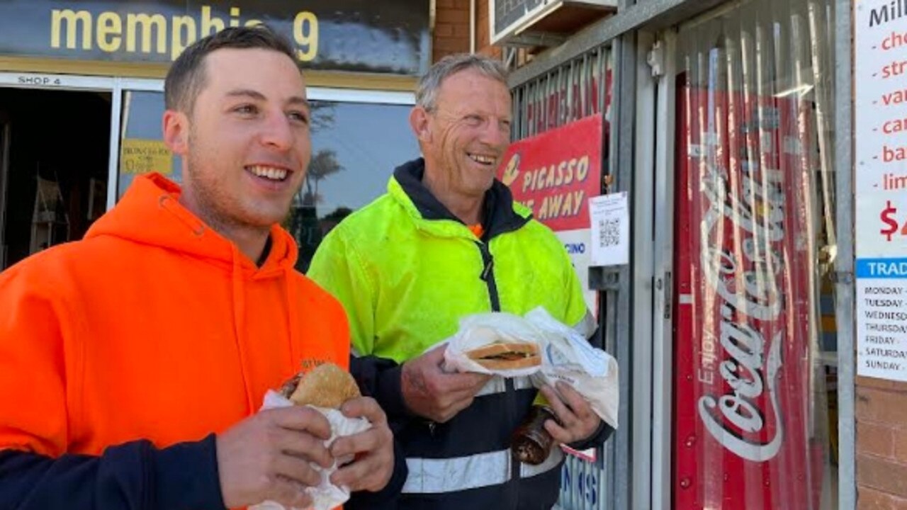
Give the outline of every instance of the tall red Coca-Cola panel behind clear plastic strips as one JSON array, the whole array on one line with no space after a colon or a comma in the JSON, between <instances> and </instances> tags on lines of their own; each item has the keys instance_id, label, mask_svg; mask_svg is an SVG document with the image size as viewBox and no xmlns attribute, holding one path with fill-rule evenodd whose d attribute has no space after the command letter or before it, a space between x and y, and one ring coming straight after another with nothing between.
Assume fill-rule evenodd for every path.
<instances>
[{"instance_id":1,"label":"tall red Coca-Cola panel behind clear plastic strips","mask_svg":"<svg viewBox=\"0 0 907 510\"><path fill-rule=\"evenodd\" d=\"M679 510L818 508L810 114L678 87Z\"/></svg>"}]
</instances>

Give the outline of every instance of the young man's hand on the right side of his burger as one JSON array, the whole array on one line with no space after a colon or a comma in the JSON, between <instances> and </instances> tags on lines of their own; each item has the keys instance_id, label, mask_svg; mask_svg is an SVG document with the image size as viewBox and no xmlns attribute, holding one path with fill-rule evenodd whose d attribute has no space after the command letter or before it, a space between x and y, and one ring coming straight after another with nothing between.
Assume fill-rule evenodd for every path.
<instances>
[{"instance_id":1,"label":"young man's hand on the right side of his burger","mask_svg":"<svg viewBox=\"0 0 907 510\"><path fill-rule=\"evenodd\" d=\"M335 458L355 456L352 463L336 470L331 483L346 485L350 491L380 491L394 473L394 435L387 426L385 412L370 397L347 400L340 411L345 417L365 417L372 427L352 436L338 437L331 445L331 455Z\"/></svg>"}]
</instances>

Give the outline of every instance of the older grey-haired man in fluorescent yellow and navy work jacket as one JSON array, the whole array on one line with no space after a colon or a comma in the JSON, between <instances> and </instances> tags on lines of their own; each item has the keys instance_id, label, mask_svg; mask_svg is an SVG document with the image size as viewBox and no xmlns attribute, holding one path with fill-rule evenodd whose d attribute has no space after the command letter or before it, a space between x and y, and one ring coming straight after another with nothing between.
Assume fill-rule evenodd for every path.
<instances>
[{"instance_id":1,"label":"older grey-haired man in fluorescent yellow and navy work jacket","mask_svg":"<svg viewBox=\"0 0 907 510\"><path fill-rule=\"evenodd\" d=\"M541 466L509 450L537 394L528 378L445 373L444 347L432 348L469 314L538 306L591 333L563 245L494 179L511 130L501 64L470 54L434 64L410 123L424 159L398 167L387 194L331 230L308 275L344 304L352 372L403 445L402 508L550 509L560 448ZM610 427L570 387L558 389L563 401L542 388L562 424L545 424L551 436L577 447L604 441Z\"/></svg>"}]
</instances>

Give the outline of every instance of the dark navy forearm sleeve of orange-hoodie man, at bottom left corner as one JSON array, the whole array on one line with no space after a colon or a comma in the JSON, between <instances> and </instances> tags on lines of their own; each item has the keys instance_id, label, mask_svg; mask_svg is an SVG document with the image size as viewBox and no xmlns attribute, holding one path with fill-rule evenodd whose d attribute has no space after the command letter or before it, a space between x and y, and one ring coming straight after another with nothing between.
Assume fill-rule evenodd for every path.
<instances>
[{"instance_id":1,"label":"dark navy forearm sleeve of orange-hoodie man, at bottom left corner","mask_svg":"<svg viewBox=\"0 0 907 510\"><path fill-rule=\"evenodd\" d=\"M214 435L162 449L132 441L101 456L0 451L0 508L222 510Z\"/></svg>"}]
</instances>

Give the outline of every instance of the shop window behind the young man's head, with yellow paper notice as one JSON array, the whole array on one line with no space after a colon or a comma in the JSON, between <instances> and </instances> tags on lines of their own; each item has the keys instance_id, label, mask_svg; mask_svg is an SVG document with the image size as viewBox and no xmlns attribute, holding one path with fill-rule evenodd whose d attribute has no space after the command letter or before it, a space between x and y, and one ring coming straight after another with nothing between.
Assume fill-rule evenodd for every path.
<instances>
[{"instance_id":1,"label":"shop window behind the young man's head, with yellow paper notice","mask_svg":"<svg viewBox=\"0 0 907 510\"><path fill-rule=\"evenodd\" d=\"M136 175L182 181L182 161L161 140L163 93L123 93L118 197ZM336 223L385 192L395 167L419 156L407 104L312 101L312 162L284 226L307 270Z\"/></svg>"}]
</instances>

